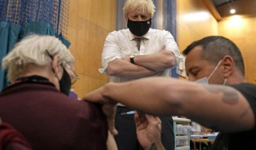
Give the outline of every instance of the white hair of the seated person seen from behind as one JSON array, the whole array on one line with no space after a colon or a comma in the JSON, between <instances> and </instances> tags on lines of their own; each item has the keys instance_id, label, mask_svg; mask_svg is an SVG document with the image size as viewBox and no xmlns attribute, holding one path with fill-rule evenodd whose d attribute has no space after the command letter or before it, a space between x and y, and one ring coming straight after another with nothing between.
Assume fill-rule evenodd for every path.
<instances>
[{"instance_id":1,"label":"white hair of the seated person seen from behind","mask_svg":"<svg viewBox=\"0 0 256 150\"><path fill-rule=\"evenodd\" d=\"M8 80L14 82L20 74L26 71L29 64L45 66L52 58L50 55L58 55L59 64L65 61L74 64L75 58L62 42L55 36L30 35L15 44L13 50L3 58L2 68L8 68Z\"/></svg>"}]
</instances>

